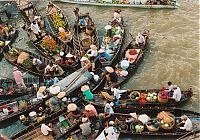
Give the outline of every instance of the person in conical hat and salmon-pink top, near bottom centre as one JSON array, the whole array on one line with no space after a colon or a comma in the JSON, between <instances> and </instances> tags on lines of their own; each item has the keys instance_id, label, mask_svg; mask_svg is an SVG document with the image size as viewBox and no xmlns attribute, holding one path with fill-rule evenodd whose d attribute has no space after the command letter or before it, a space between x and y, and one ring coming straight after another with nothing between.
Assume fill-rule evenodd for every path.
<instances>
[{"instance_id":1,"label":"person in conical hat and salmon-pink top, near bottom centre","mask_svg":"<svg viewBox=\"0 0 200 140\"><path fill-rule=\"evenodd\" d=\"M85 106L83 114L92 120L98 116L96 108L91 104Z\"/></svg>"}]
</instances>

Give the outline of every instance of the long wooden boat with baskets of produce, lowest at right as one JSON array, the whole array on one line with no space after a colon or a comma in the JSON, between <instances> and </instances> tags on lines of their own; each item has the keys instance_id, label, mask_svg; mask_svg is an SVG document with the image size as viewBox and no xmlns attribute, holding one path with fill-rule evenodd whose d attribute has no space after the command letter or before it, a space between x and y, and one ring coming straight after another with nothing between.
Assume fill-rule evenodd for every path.
<instances>
[{"instance_id":1,"label":"long wooden boat with baskets of produce, lowest at right","mask_svg":"<svg viewBox=\"0 0 200 140\"><path fill-rule=\"evenodd\" d=\"M164 111L164 113L163 113ZM158 108L143 108L143 109L124 109L123 114L122 110L118 109L115 110L114 116L117 118L116 120L116 126L120 130L121 134L130 134L130 135L148 135L148 136L182 136L188 133L187 131L182 131L178 128L178 124L180 123L180 118L183 115L186 115L189 117L192 122L193 122L193 129L199 128L199 117L200 113L194 112L194 111L189 111L189 110L183 110L180 108L165 108L165 109L158 109ZM157 129L152 128L152 123L147 123L146 125L142 125L141 123L126 123L126 120L129 120L132 118L131 115L126 114L126 113L132 113L136 112L137 116L146 114L147 116L150 117L150 120L156 120L158 122L158 125L156 126ZM160 113L160 114L159 114ZM166 113L173 118L172 122L167 122L167 121L162 121L164 116L161 116ZM165 116L164 118L169 118L169 116ZM149 121L148 121L149 122ZM155 122L155 121L154 121ZM194 123L195 122L195 123ZM165 124L166 125L164 126ZM136 126L137 124L141 124L143 126L143 129L140 132L136 132ZM151 126L148 128L148 126ZM171 126L170 126L171 125ZM192 130L193 130L192 129ZM192 131L191 130L191 131Z\"/></svg>"}]
</instances>

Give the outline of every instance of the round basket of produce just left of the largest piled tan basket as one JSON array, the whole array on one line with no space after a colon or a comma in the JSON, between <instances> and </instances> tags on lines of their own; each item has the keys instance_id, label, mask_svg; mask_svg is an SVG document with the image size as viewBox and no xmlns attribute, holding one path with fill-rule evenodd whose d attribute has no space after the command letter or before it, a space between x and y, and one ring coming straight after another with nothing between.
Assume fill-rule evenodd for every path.
<instances>
[{"instance_id":1,"label":"round basket of produce just left of the largest piled tan basket","mask_svg":"<svg viewBox=\"0 0 200 140\"><path fill-rule=\"evenodd\" d=\"M157 119L151 119L147 122L146 127L150 132L157 132L160 128L160 124Z\"/></svg>"}]
</instances>

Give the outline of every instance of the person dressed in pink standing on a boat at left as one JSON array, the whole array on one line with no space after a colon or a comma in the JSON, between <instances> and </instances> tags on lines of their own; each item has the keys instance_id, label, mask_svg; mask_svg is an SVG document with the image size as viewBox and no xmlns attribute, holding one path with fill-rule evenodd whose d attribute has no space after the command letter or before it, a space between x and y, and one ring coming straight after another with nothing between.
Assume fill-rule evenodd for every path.
<instances>
[{"instance_id":1,"label":"person dressed in pink standing on a boat at left","mask_svg":"<svg viewBox=\"0 0 200 140\"><path fill-rule=\"evenodd\" d=\"M21 91L25 91L25 89L26 89L26 85L25 85L24 79L23 79L25 74L26 73L22 73L21 71L18 70L18 68L16 66L14 66L13 76L14 76L15 82L17 83L17 85Z\"/></svg>"}]
</instances>

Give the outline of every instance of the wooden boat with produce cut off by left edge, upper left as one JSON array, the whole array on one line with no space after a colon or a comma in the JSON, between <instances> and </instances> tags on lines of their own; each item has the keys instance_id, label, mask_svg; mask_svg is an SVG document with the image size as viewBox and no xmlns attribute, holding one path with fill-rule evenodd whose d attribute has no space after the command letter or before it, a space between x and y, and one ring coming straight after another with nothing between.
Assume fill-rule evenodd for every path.
<instances>
[{"instance_id":1,"label":"wooden boat with produce cut off by left edge, upper left","mask_svg":"<svg viewBox=\"0 0 200 140\"><path fill-rule=\"evenodd\" d=\"M3 28L3 27L2 27ZM14 29L14 28L13 28ZM1 30L1 29L0 29ZM12 34L9 35L9 38L6 38L6 35L1 34L0 36L0 61L2 60L4 53L7 52L8 48L12 43L16 40L18 37L18 30L15 30L12 32Z\"/></svg>"}]
</instances>

